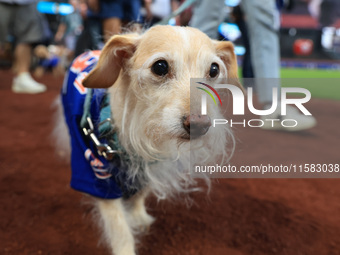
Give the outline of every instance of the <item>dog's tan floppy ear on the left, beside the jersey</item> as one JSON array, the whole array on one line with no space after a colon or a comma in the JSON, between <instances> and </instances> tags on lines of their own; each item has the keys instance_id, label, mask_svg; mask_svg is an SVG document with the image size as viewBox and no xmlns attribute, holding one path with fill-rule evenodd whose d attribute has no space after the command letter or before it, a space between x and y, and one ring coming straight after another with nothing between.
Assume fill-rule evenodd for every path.
<instances>
[{"instance_id":1,"label":"dog's tan floppy ear on the left, beside the jersey","mask_svg":"<svg viewBox=\"0 0 340 255\"><path fill-rule=\"evenodd\" d=\"M85 77L87 88L108 88L117 80L125 61L136 50L137 34L115 35L103 48L97 66Z\"/></svg>"}]
</instances>

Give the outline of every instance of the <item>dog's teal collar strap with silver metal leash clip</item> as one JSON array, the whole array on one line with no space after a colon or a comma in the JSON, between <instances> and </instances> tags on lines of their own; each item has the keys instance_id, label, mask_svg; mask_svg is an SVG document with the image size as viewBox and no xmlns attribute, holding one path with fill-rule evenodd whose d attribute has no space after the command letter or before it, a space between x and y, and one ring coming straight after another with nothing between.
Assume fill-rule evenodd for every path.
<instances>
[{"instance_id":1,"label":"dog's teal collar strap with silver metal leash clip","mask_svg":"<svg viewBox=\"0 0 340 255\"><path fill-rule=\"evenodd\" d=\"M91 102L93 90L89 89L85 97L84 111L80 121L83 133L97 149L97 153L106 160L111 161L116 157L127 160L128 155L118 140L118 134L111 118L109 95L105 93L99 106L99 119L93 121L91 117ZM97 125L95 126L94 123Z\"/></svg>"}]
</instances>

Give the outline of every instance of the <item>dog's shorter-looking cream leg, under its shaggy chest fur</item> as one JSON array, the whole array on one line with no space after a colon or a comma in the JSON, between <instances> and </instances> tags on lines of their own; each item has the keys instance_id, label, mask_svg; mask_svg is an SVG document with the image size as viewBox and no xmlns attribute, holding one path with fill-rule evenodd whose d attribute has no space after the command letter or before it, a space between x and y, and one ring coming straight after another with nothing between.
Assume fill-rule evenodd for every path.
<instances>
[{"instance_id":1,"label":"dog's shorter-looking cream leg, under its shaggy chest fur","mask_svg":"<svg viewBox=\"0 0 340 255\"><path fill-rule=\"evenodd\" d=\"M137 232L146 232L155 219L149 215L145 208L145 199L149 194L148 189L144 189L128 199L126 207L128 209L128 220L130 226Z\"/></svg>"}]
</instances>

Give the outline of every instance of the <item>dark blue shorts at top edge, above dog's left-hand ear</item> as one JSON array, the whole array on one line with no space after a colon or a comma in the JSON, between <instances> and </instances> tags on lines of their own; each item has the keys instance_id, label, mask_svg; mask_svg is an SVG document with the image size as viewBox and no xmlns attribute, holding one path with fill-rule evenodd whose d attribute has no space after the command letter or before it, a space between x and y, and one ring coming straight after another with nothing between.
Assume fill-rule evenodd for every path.
<instances>
[{"instance_id":1,"label":"dark blue shorts at top edge, above dog's left-hand ear","mask_svg":"<svg viewBox=\"0 0 340 255\"><path fill-rule=\"evenodd\" d=\"M140 18L140 8L140 0L103 0L100 1L99 17L137 22Z\"/></svg>"}]
</instances>

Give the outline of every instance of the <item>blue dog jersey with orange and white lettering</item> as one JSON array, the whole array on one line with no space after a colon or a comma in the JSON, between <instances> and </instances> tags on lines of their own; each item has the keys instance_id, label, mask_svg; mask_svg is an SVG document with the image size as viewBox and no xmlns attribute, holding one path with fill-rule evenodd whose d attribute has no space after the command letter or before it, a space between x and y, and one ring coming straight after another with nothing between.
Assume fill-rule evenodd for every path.
<instances>
[{"instance_id":1,"label":"blue dog jersey with orange and white lettering","mask_svg":"<svg viewBox=\"0 0 340 255\"><path fill-rule=\"evenodd\" d=\"M98 155L95 146L80 127L88 89L82 80L98 62L100 51L89 51L77 57L65 77L62 88L64 115L71 137L71 187L99 198L114 199L129 193L121 180L120 160L108 162ZM104 89L94 89L91 103L92 120L98 120ZM119 177L119 178L117 178Z\"/></svg>"}]
</instances>

